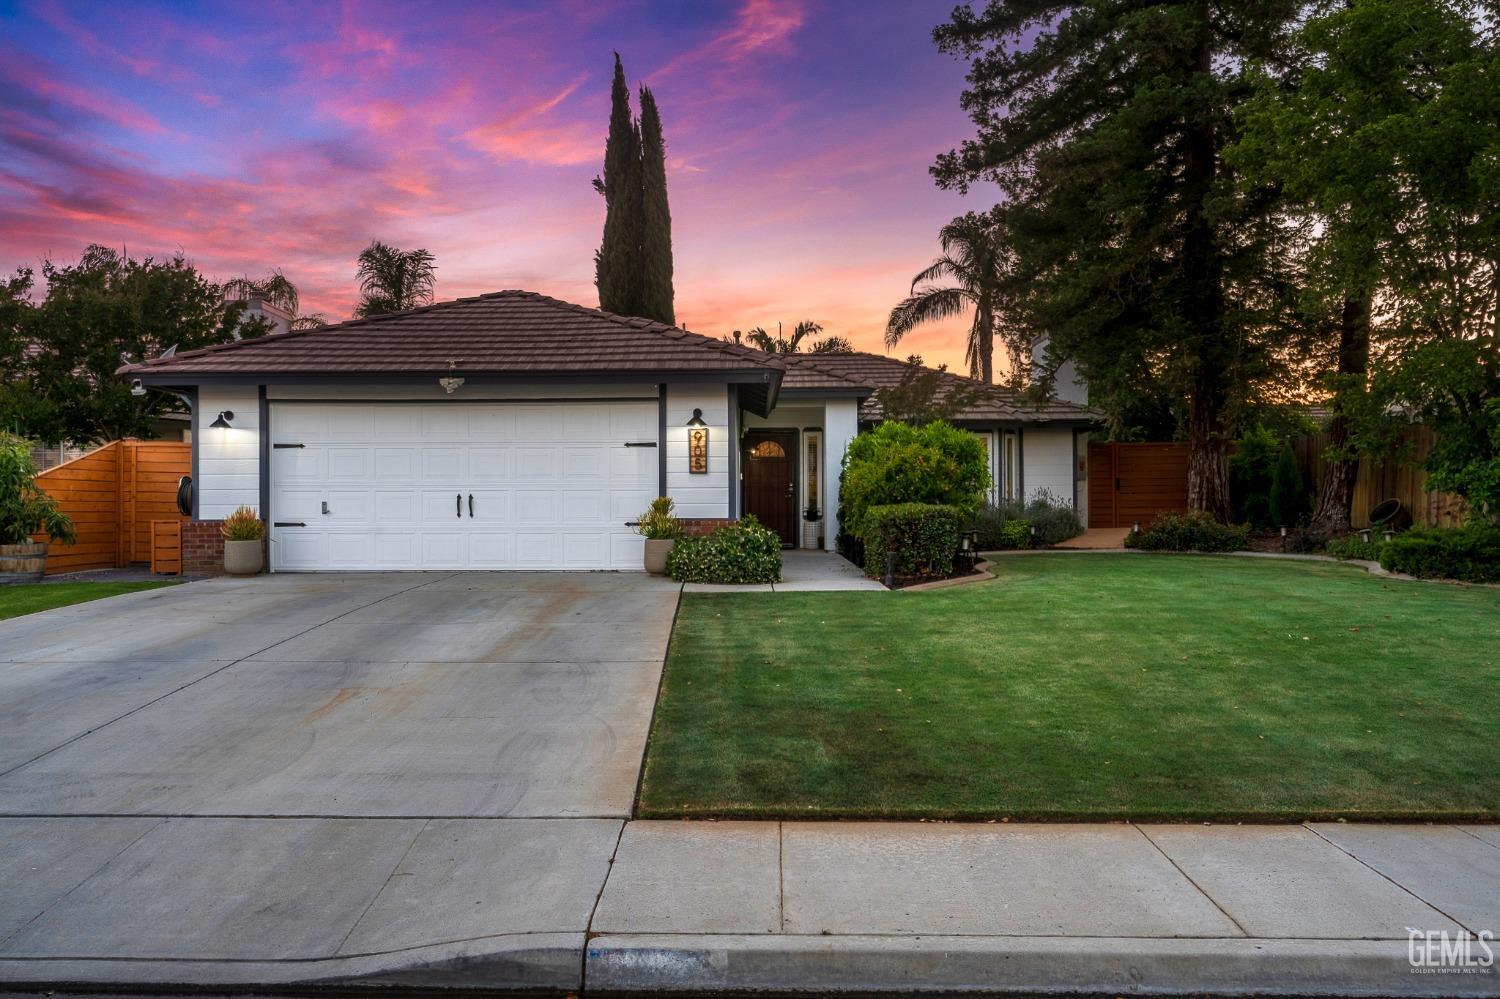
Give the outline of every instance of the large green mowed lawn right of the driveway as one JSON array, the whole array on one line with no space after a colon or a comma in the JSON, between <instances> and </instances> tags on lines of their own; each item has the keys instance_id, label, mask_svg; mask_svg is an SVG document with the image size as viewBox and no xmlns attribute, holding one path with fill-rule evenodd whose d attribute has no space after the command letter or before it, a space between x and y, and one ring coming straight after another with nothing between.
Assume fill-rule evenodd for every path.
<instances>
[{"instance_id":1,"label":"large green mowed lawn right of the driveway","mask_svg":"<svg viewBox=\"0 0 1500 999\"><path fill-rule=\"evenodd\" d=\"M1014 555L684 594L642 816L1500 818L1500 590Z\"/></svg>"}]
</instances>

